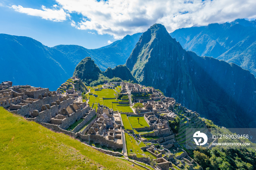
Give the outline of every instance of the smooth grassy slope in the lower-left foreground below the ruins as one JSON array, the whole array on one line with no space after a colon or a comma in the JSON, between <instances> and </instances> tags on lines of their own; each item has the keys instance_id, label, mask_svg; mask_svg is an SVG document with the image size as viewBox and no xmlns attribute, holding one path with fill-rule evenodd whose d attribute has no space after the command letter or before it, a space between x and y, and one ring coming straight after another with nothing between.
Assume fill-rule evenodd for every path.
<instances>
[{"instance_id":1,"label":"smooth grassy slope in the lower-left foreground below the ruins","mask_svg":"<svg viewBox=\"0 0 256 170\"><path fill-rule=\"evenodd\" d=\"M0 107L0 169L142 169Z\"/></svg>"}]
</instances>

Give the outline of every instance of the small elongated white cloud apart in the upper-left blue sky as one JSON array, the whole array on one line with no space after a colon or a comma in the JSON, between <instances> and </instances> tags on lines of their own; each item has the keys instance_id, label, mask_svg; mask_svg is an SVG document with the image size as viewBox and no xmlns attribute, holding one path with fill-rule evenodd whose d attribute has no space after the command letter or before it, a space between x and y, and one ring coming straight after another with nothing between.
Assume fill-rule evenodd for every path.
<instances>
[{"instance_id":1,"label":"small elongated white cloud apart in the upper-left blue sky","mask_svg":"<svg viewBox=\"0 0 256 170\"><path fill-rule=\"evenodd\" d=\"M24 8L20 5L12 5L11 8L13 8L15 11L21 12L21 13L26 13L27 15L32 15L32 16L39 16L43 19L46 20L52 20L55 22L60 22L64 21L67 19L67 16L70 17L68 13L64 11L63 8L56 9L56 5L53 7L55 9L49 9L46 8L44 5L42 5L42 10L40 9L33 9L33 8Z\"/></svg>"}]
</instances>

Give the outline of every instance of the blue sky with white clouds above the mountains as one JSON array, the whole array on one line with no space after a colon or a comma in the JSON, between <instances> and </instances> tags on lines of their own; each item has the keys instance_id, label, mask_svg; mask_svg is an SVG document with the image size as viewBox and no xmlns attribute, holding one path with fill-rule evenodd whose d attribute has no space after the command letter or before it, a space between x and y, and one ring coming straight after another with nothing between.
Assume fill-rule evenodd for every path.
<instances>
[{"instance_id":1,"label":"blue sky with white clouds above the mountains","mask_svg":"<svg viewBox=\"0 0 256 170\"><path fill-rule=\"evenodd\" d=\"M106 46L155 23L178 28L256 19L256 0L0 0L0 33L42 44Z\"/></svg>"}]
</instances>

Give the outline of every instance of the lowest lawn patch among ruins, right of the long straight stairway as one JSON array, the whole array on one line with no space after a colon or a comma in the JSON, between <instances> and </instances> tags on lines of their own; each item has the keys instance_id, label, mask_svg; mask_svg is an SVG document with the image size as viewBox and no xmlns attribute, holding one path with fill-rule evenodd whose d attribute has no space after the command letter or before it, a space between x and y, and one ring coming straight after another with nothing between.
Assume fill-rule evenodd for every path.
<instances>
[{"instance_id":1,"label":"lowest lawn patch among ruins, right of the long straight stairway","mask_svg":"<svg viewBox=\"0 0 256 170\"><path fill-rule=\"evenodd\" d=\"M126 142L128 154L135 153L138 158L143 157L143 155L141 154L143 154L144 152L140 149L136 140L132 136L128 135L127 133L125 133L125 142ZM130 149L132 149L132 151L130 151Z\"/></svg>"}]
</instances>

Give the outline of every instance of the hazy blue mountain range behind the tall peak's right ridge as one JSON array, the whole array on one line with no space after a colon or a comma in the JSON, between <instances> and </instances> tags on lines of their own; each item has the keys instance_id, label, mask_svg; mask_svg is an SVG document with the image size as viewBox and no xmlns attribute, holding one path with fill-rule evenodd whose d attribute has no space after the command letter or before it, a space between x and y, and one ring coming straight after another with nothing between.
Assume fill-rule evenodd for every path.
<instances>
[{"instance_id":1,"label":"hazy blue mountain range behind the tall peak's right ridge","mask_svg":"<svg viewBox=\"0 0 256 170\"><path fill-rule=\"evenodd\" d=\"M185 50L236 63L256 75L256 20L181 28L170 35Z\"/></svg>"}]
</instances>

